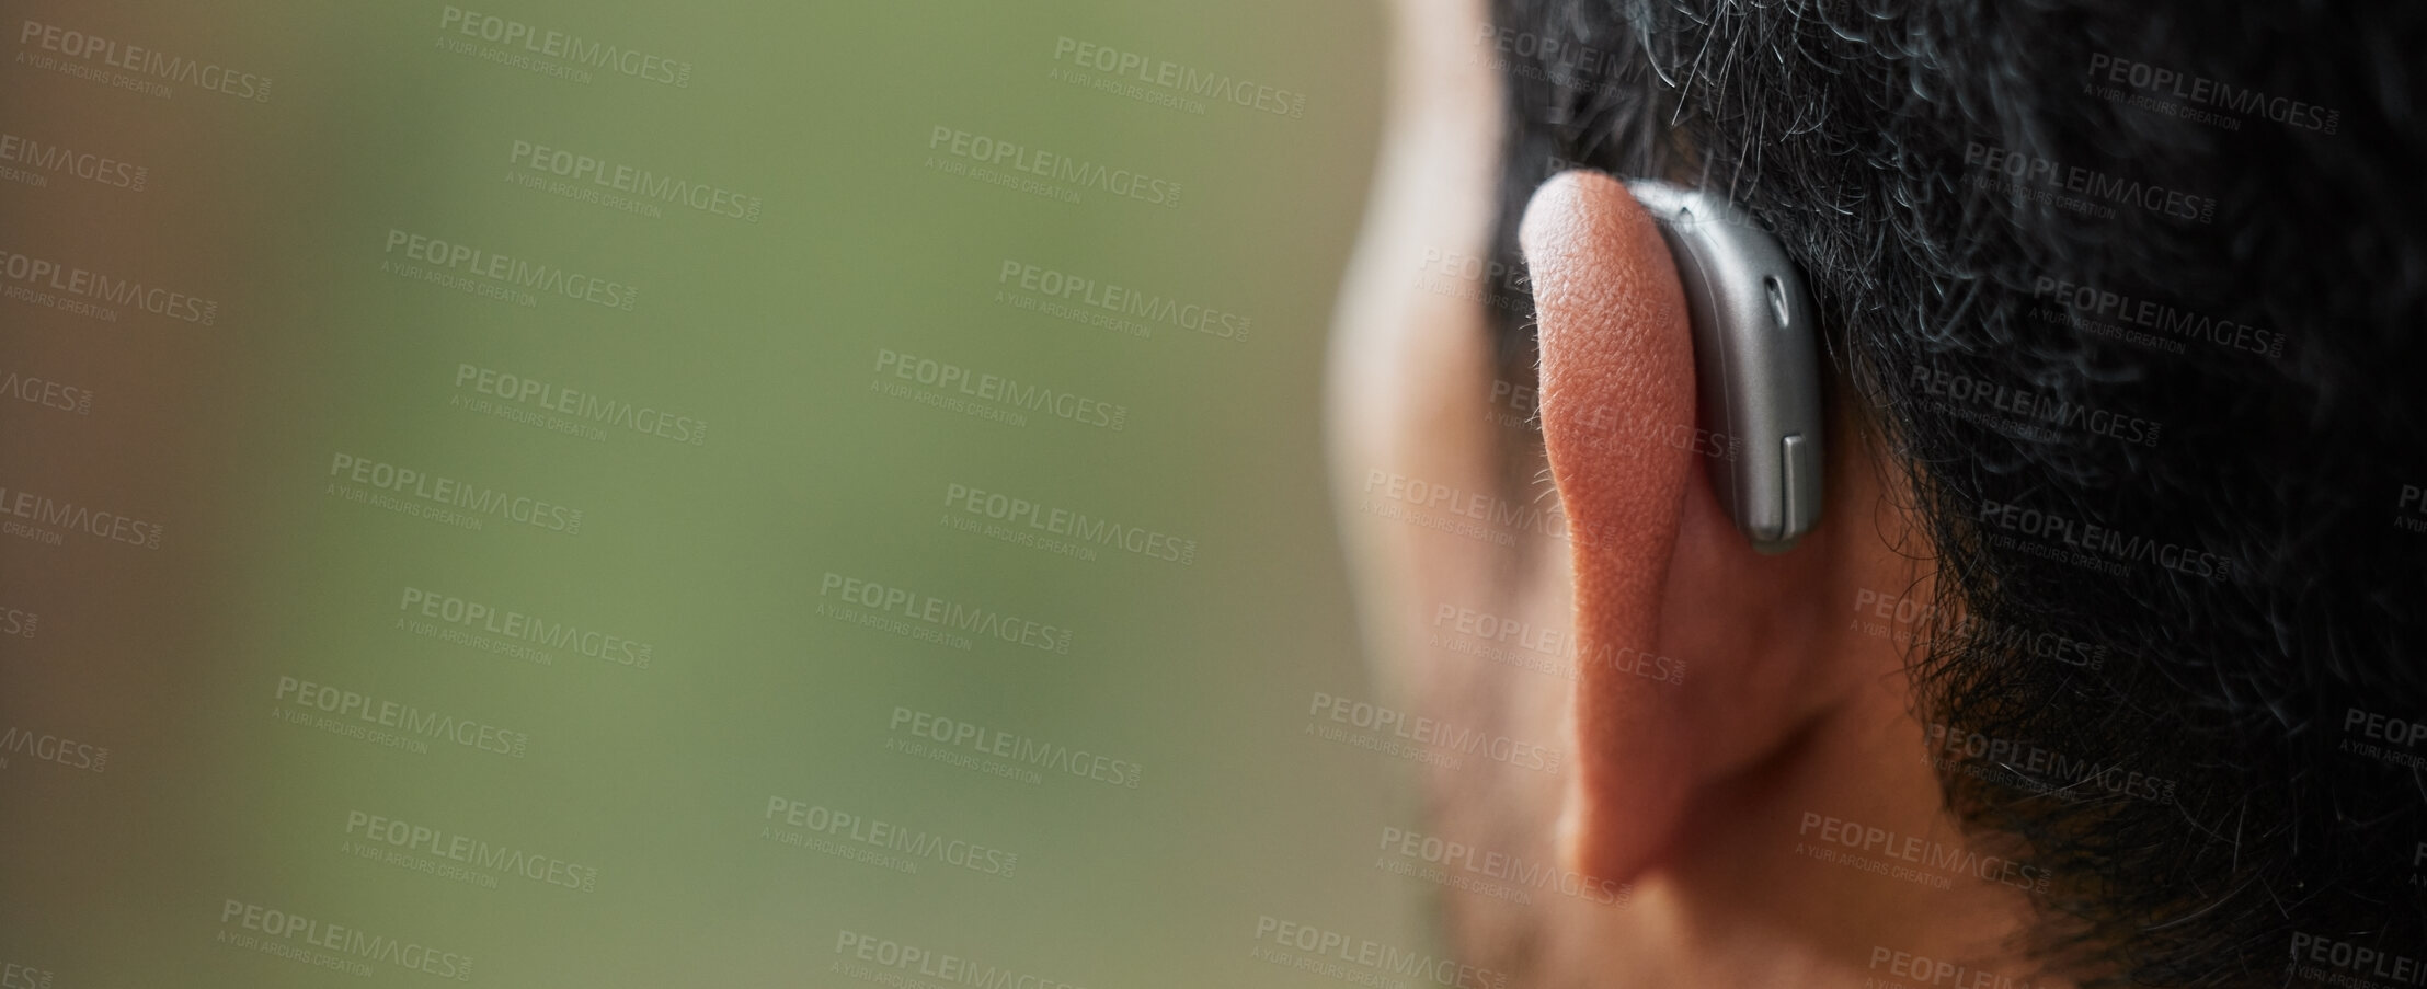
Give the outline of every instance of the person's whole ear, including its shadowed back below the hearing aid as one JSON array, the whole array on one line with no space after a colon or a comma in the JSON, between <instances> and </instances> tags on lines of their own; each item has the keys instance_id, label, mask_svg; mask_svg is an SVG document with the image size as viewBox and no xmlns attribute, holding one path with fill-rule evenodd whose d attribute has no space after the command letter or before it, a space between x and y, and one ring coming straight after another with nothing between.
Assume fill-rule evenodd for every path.
<instances>
[{"instance_id":1,"label":"person's whole ear, including its shadowed back below the hearing aid","mask_svg":"<svg viewBox=\"0 0 2427 989\"><path fill-rule=\"evenodd\" d=\"M1575 572L1568 865L1631 882L1696 802L1794 739L1835 645L1830 524L1764 558L1711 492L1694 332L1658 223L1607 175L1565 172L1519 242L1541 320L1541 424ZM1842 509L1842 504L1832 504ZM1847 526L1835 526L1847 528ZM1677 669L1687 676L1650 676ZM1798 693L1803 691L1803 693Z\"/></svg>"}]
</instances>

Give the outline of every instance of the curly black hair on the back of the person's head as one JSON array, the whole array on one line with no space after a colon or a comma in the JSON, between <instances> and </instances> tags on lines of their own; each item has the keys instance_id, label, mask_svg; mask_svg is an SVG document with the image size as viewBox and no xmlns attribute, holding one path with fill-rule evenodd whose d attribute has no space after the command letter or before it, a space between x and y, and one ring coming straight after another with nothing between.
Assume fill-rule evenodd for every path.
<instances>
[{"instance_id":1,"label":"curly black hair on the back of the person's head","mask_svg":"<svg viewBox=\"0 0 2427 989\"><path fill-rule=\"evenodd\" d=\"M2056 877L2046 974L2427 962L2427 7L1493 0L1476 41L1505 264L1563 167L1803 264L1934 543L1949 807Z\"/></svg>"}]
</instances>

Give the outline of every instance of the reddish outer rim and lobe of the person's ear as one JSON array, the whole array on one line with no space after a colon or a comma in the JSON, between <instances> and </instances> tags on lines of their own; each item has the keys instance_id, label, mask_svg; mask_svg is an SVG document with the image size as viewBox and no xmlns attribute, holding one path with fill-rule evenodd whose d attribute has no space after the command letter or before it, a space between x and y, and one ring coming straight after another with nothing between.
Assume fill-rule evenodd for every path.
<instances>
[{"instance_id":1,"label":"reddish outer rim and lobe of the person's ear","mask_svg":"<svg viewBox=\"0 0 2427 989\"><path fill-rule=\"evenodd\" d=\"M1519 242L1541 320L1541 424L1575 553L1575 773L1561 848L1578 873L1633 880L1675 839L1696 781L1660 654L1662 604L1699 461L1694 337L1660 228L1607 175L1565 172L1527 206Z\"/></svg>"}]
</instances>

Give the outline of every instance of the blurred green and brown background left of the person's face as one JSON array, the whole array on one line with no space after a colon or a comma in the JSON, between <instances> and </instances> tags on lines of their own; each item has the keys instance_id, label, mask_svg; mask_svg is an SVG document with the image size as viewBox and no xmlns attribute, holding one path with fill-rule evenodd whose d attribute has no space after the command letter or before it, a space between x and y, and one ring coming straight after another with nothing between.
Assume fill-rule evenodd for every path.
<instances>
[{"instance_id":1,"label":"blurred green and brown background left of the person's face","mask_svg":"<svg viewBox=\"0 0 2427 989\"><path fill-rule=\"evenodd\" d=\"M1328 718L1374 5L10 12L0 984L1427 950Z\"/></svg>"}]
</instances>

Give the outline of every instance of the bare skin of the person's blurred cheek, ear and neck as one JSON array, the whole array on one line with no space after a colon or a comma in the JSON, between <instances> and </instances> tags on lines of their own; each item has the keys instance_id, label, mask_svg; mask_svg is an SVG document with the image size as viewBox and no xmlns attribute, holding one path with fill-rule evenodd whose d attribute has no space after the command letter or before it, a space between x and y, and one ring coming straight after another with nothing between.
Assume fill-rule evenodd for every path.
<instances>
[{"instance_id":1,"label":"bare skin of the person's blurred cheek, ear and neck","mask_svg":"<svg viewBox=\"0 0 2427 989\"><path fill-rule=\"evenodd\" d=\"M1624 187L1570 172L1522 225L1541 322L1539 417L1524 422L1507 388L1495 398L1480 284L1422 269L1488 255L1500 92L1473 41L1485 12L1405 0L1396 15L1383 160L1330 354L1359 621L1403 703L1563 754L1556 773L1430 768L1432 829L1626 890L1619 904L1446 890L1451 955L1517 987L2051 987L2010 945L2027 907L2005 873L1920 868L1925 885L1820 853L1847 848L1811 814L1966 848L1925 761L1905 642L1857 623L1862 591L1925 596L1929 574L1845 383L1820 526L1786 555L1752 553L1701 456L1675 441L1694 436L1675 262ZM1410 504L1410 482L1456 494ZM1495 541L1405 519L1451 519L1442 504L1473 497L1553 511L1565 533L1500 526L1510 538ZM1463 613L1573 642L1497 642L1502 657L1558 654L1573 676L1478 657ZM1650 676L1643 657L1684 674Z\"/></svg>"}]
</instances>

